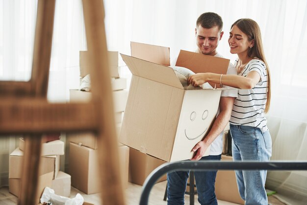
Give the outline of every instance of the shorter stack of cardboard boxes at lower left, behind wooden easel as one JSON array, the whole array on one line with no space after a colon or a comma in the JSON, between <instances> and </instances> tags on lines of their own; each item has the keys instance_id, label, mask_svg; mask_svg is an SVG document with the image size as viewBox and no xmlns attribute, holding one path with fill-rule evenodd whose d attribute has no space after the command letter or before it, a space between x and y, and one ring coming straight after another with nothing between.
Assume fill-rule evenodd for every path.
<instances>
[{"instance_id":1,"label":"shorter stack of cardboard boxes at lower left, behind wooden easel","mask_svg":"<svg viewBox=\"0 0 307 205\"><path fill-rule=\"evenodd\" d=\"M41 194L48 186L54 189L55 194L70 197L71 177L59 171L60 155L64 155L64 142L59 139L59 134L43 137L38 192ZM21 186L24 151L25 140L20 138L19 147L9 157L9 192L17 197Z\"/></svg>"}]
</instances>

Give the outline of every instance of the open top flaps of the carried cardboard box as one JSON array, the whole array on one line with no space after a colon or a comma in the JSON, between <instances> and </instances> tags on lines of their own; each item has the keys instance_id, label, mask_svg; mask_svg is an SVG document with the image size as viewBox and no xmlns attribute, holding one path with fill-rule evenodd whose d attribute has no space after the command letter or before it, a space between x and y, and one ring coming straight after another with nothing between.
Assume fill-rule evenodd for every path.
<instances>
[{"instance_id":1,"label":"open top flaps of the carried cardboard box","mask_svg":"<svg viewBox=\"0 0 307 205\"><path fill-rule=\"evenodd\" d=\"M169 48L131 42L131 55L133 57L121 54L133 75L180 89L183 88L173 69L167 67L169 61L167 63L165 59L169 59ZM216 73L225 75L229 63L230 60L226 58L180 50L176 66L188 68L194 73ZM210 85L212 87L221 88L218 83L210 83Z\"/></svg>"}]
</instances>

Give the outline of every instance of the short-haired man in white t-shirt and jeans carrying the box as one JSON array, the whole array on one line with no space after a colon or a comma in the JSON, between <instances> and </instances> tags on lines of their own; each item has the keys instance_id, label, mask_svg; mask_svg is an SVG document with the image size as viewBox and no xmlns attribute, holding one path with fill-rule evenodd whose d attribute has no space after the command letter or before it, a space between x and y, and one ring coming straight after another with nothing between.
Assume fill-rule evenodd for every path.
<instances>
[{"instance_id":1,"label":"short-haired man in white t-shirt and jeans carrying the box","mask_svg":"<svg viewBox=\"0 0 307 205\"><path fill-rule=\"evenodd\" d=\"M222 39L222 18L212 12L202 14L196 22L195 34L198 53L222 57L216 49ZM230 64L227 74L237 75L235 68ZM224 86L223 86L224 88ZM191 160L220 160L223 150L223 130L230 120L230 114L237 90L223 90L221 94L219 112L206 137L193 148L196 152ZM210 152L204 156L209 145ZM201 205L217 205L214 183L217 171L195 172L195 181L198 193L198 201ZM167 204L184 205L184 192L186 189L189 172L180 171L167 174Z\"/></svg>"}]
</instances>

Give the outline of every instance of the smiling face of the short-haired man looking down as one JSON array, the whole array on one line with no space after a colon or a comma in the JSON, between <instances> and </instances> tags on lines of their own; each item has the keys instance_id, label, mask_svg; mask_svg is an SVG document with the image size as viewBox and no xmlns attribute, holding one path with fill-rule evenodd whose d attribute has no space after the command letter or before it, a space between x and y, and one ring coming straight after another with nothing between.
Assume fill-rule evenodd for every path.
<instances>
[{"instance_id":1,"label":"smiling face of the short-haired man looking down","mask_svg":"<svg viewBox=\"0 0 307 205\"><path fill-rule=\"evenodd\" d=\"M199 25L195 28L195 33L198 52L205 55L215 55L224 32L220 32L218 26L204 28Z\"/></svg>"}]
</instances>

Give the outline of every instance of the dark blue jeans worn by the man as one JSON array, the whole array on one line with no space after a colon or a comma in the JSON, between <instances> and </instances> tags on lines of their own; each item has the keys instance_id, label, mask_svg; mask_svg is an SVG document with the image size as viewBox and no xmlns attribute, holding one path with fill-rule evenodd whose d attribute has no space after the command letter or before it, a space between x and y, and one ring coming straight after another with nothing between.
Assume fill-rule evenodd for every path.
<instances>
[{"instance_id":1,"label":"dark blue jeans worn by the man","mask_svg":"<svg viewBox=\"0 0 307 205\"><path fill-rule=\"evenodd\" d=\"M201 160L221 160L220 155L204 156ZM194 172L198 202L201 205L217 205L214 192L216 171ZM167 205L184 205L184 192L190 171L167 173Z\"/></svg>"}]
</instances>

